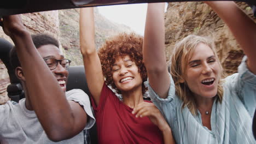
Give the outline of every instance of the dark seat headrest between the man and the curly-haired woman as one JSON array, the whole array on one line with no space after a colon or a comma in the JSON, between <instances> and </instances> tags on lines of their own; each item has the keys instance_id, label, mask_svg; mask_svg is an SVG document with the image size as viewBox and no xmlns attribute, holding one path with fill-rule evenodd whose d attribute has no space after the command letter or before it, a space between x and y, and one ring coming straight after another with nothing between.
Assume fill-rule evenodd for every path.
<instances>
[{"instance_id":1,"label":"dark seat headrest between the man and the curly-haired woman","mask_svg":"<svg viewBox=\"0 0 256 144\"><path fill-rule=\"evenodd\" d=\"M85 70L83 65L71 66L68 69L67 91L71 89L82 89L86 94L90 95L90 91L85 78Z\"/></svg>"}]
</instances>

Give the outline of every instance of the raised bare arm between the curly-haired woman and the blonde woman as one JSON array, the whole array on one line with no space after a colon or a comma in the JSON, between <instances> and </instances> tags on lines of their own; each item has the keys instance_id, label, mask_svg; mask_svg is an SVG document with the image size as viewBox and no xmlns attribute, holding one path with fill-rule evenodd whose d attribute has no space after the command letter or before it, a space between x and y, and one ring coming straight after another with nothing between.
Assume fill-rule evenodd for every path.
<instances>
[{"instance_id":1,"label":"raised bare arm between the curly-haired woman and the blonde woman","mask_svg":"<svg viewBox=\"0 0 256 144\"><path fill-rule=\"evenodd\" d=\"M143 41L143 59L150 86L161 98L166 98L170 78L165 58L164 3L148 4Z\"/></svg>"}]
</instances>

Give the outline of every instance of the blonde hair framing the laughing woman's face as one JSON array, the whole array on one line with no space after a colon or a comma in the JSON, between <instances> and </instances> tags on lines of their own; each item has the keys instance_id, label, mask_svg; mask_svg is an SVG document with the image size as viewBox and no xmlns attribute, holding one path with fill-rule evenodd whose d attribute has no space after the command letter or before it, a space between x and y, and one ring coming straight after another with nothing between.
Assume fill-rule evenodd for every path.
<instances>
[{"instance_id":1,"label":"blonde hair framing the laughing woman's face","mask_svg":"<svg viewBox=\"0 0 256 144\"><path fill-rule=\"evenodd\" d=\"M185 81L184 74L185 74L185 71L187 70L186 66L195 50L195 47L200 43L203 43L211 48L211 50L214 53L214 56L216 56L217 62L219 63L220 79L218 81L217 95L218 95L218 100L220 100L220 103L221 103L222 97L223 97L223 87L222 87L222 80L221 80L224 76L223 68L218 59L215 44L210 38L200 37L197 35L188 35L187 37L179 41L179 43L177 43L174 46L174 51L170 60L171 75L175 84L176 94L183 101L182 108L184 108L185 106L188 106L188 109L193 115L196 115L197 113L196 102L195 102L193 93L190 91L187 85L187 82Z\"/></svg>"}]
</instances>

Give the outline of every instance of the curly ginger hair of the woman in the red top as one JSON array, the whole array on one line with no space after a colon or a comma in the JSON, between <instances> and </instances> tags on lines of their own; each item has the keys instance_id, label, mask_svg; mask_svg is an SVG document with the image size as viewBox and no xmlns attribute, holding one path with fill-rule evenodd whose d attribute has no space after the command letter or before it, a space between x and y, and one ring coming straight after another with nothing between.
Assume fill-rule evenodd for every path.
<instances>
[{"instance_id":1,"label":"curly ginger hair of the woman in the red top","mask_svg":"<svg viewBox=\"0 0 256 144\"><path fill-rule=\"evenodd\" d=\"M130 56L131 61L136 63L138 73L142 77L142 81L147 81L147 71L142 56L143 37L135 33L121 33L113 38L106 40L106 43L98 51L101 67L106 84L112 86L120 94L121 92L114 84L112 77L112 67L119 58ZM146 87L142 82L142 94L146 92Z\"/></svg>"}]
</instances>

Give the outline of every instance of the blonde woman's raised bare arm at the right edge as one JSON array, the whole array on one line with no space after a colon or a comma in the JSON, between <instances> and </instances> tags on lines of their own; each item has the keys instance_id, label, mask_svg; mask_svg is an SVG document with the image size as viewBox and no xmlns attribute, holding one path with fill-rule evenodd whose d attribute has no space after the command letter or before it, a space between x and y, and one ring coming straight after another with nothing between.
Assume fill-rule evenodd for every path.
<instances>
[{"instance_id":1,"label":"blonde woman's raised bare arm at the right edge","mask_svg":"<svg viewBox=\"0 0 256 144\"><path fill-rule=\"evenodd\" d=\"M245 52L248 69L256 74L256 23L234 2L205 2L219 15Z\"/></svg>"}]
</instances>

